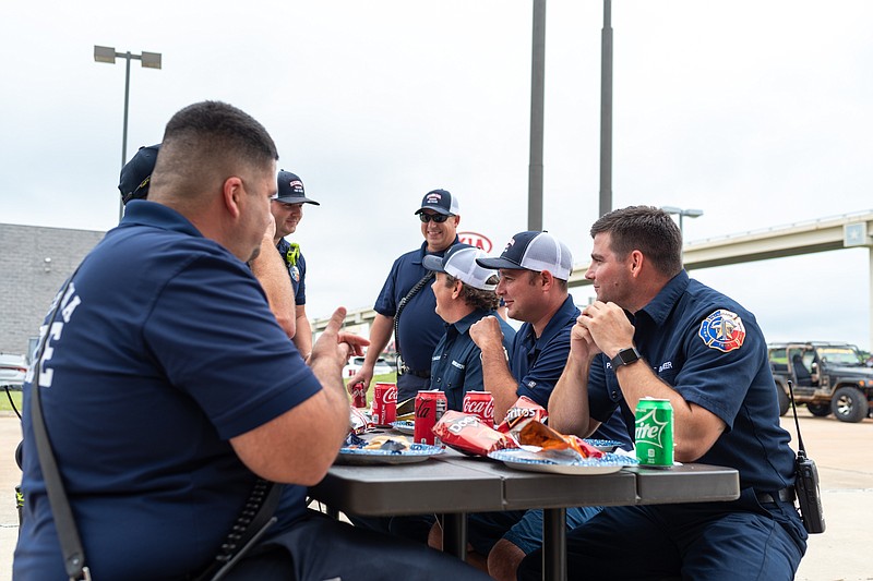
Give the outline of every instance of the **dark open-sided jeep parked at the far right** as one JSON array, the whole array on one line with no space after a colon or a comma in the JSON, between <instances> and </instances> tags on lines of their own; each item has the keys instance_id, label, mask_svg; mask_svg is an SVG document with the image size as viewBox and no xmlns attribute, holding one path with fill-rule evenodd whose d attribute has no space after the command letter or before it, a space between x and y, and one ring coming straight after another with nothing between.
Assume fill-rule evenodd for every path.
<instances>
[{"instance_id":1,"label":"dark open-sided jeep parked at the far right","mask_svg":"<svg viewBox=\"0 0 873 581\"><path fill-rule=\"evenodd\" d=\"M871 413L873 367L853 344L798 341L767 348L781 415L791 407L789 380L794 403L805 403L813 415L833 413L842 422L860 422Z\"/></svg>"}]
</instances>

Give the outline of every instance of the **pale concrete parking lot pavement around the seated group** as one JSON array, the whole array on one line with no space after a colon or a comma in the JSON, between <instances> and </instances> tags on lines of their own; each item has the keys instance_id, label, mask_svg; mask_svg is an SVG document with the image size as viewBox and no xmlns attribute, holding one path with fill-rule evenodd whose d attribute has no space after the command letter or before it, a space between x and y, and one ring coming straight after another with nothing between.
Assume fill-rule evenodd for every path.
<instances>
[{"instance_id":1,"label":"pale concrete parking lot pavement around the seated group","mask_svg":"<svg viewBox=\"0 0 873 581\"><path fill-rule=\"evenodd\" d=\"M873 522L873 419L847 424L833 416L813 417L805 409L798 415L803 444L818 467L827 530L810 537L796 579L873 581L868 553ZM790 414L782 417L782 426L796 444ZM17 416L0 415L0 581L12 579L19 531L14 488L21 479L14 451L20 439Z\"/></svg>"}]
</instances>

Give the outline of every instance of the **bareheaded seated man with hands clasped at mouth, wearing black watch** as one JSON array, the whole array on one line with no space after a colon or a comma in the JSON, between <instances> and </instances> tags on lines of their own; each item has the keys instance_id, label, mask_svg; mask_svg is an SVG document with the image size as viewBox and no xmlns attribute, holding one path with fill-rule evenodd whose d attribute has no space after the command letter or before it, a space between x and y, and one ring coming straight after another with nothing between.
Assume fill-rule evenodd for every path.
<instances>
[{"instance_id":1,"label":"bareheaded seated man with hands clasped at mouth, wearing black watch","mask_svg":"<svg viewBox=\"0 0 873 581\"><path fill-rule=\"evenodd\" d=\"M790 580L806 549L794 508L794 453L779 426L755 317L689 278L682 234L658 208L632 206L591 227L586 278L597 301L573 327L549 425L587 436L641 399L673 408L679 462L736 468L732 503L606 507L567 533L571 579ZM519 579L540 579L531 553Z\"/></svg>"}]
</instances>

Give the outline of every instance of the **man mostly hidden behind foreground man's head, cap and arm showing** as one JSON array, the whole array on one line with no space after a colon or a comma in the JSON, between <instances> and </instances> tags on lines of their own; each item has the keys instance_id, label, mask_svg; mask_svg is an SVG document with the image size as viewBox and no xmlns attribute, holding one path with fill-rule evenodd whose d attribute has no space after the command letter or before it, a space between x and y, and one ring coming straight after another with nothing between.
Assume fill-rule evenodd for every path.
<instances>
[{"instance_id":1,"label":"man mostly hidden behind foreground man's head, cap and arm showing","mask_svg":"<svg viewBox=\"0 0 873 581\"><path fill-rule=\"evenodd\" d=\"M136 154L121 168L118 191L121 202L127 205L131 199L146 199L152 185L152 172L160 150L160 144L140 147ZM285 265L275 254L268 252L275 245L273 241L274 222L271 221L264 239L261 241L261 251L258 257L249 262L252 274L263 287L276 320L285 334L295 336L295 304L291 286L285 276ZM311 339L310 339L311 346ZM307 352L311 351L308 350Z\"/></svg>"}]
</instances>

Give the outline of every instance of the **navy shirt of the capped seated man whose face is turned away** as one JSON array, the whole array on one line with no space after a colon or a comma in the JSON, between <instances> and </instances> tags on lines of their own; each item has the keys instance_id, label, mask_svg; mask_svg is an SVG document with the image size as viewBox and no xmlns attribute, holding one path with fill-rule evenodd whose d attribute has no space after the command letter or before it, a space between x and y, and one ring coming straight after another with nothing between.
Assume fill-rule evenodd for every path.
<instances>
[{"instance_id":1,"label":"navy shirt of the capped seated man whose face is turned away","mask_svg":"<svg viewBox=\"0 0 873 581\"><path fill-rule=\"evenodd\" d=\"M500 322L503 331L503 347L509 351L515 329L500 318L495 311L476 310L455 323L445 324L445 334L433 351L430 367L430 388L445 392L450 410L463 411L464 395L467 391L482 391L481 349L470 339L469 330L474 323L493 316Z\"/></svg>"}]
</instances>

